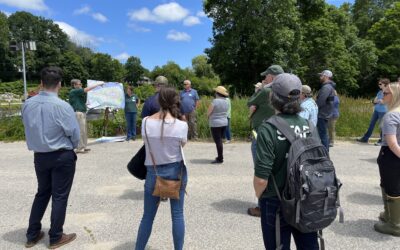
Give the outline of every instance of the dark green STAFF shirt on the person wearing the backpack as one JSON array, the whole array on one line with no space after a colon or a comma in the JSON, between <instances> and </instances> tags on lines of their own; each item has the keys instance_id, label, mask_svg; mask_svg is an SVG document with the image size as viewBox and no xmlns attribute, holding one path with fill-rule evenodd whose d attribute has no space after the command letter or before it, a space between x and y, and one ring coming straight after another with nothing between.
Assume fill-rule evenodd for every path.
<instances>
[{"instance_id":1,"label":"dark green STAFF shirt on the person wearing the backpack","mask_svg":"<svg viewBox=\"0 0 400 250\"><path fill-rule=\"evenodd\" d=\"M294 132L300 136L309 129L305 119L298 115L278 114L286 120ZM274 175L276 184L282 192L286 183L287 153L290 142L280 133L277 128L269 123L262 123L257 134L257 157L254 166L254 175L258 178L268 180L267 188L261 198L276 196L271 174Z\"/></svg>"}]
</instances>

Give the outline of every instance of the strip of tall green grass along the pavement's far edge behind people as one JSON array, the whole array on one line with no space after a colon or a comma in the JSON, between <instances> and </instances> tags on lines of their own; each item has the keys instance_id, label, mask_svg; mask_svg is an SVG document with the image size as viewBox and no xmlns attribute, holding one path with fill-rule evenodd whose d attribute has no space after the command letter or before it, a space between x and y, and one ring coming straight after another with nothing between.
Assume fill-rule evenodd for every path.
<instances>
[{"instance_id":1,"label":"strip of tall green grass along the pavement's far edge behind people","mask_svg":"<svg viewBox=\"0 0 400 250\"><path fill-rule=\"evenodd\" d=\"M207 109L212 99L212 97L202 97L199 109L197 110L197 131L201 139L211 138ZM340 96L340 101L340 117L336 125L337 136L343 138L362 136L368 128L372 115L373 105L371 101L368 99L354 99L347 96ZM247 139L250 135L249 112L246 105L247 99L234 97L231 99L231 104L232 136L236 140ZM141 107L138 110L138 128L141 126L140 112ZM116 115L118 119L111 119L109 121L107 127L107 135L109 136L121 134L120 126L125 129L124 111L119 110ZM140 133L140 129L137 132ZM103 120L89 121L88 133L89 137L101 137L103 135ZM378 126L375 128L373 136L379 136ZM24 129L21 118L1 118L0 141L14 140L24 140Z\"/></svg>"}]
</instances>

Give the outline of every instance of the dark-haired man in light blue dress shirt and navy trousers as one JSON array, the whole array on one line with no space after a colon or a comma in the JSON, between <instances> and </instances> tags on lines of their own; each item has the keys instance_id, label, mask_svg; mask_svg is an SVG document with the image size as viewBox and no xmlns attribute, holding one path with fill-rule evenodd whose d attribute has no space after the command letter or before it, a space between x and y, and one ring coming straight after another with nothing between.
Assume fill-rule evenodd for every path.
<instances>
[{"instance_id":1,"label":"dark-haired man in light blue dress shirt and navy trousers","mask_svg":"<svg viewBox=\"0 0 400 250\"><path fill-rule=\"evenodd\" d=\"M61 69L48 67L41 71L43 90L22 107L22 119L28 149L34 151L38 189L33 201L26 233L25 246L33 247L40 241L41 220L52 198L50 249L58 248L76 238L64 234L63 225L75 174L76 154L79 143L79 125L72 107L58 98L61 88Z\"/></svg>"}]
</instances>

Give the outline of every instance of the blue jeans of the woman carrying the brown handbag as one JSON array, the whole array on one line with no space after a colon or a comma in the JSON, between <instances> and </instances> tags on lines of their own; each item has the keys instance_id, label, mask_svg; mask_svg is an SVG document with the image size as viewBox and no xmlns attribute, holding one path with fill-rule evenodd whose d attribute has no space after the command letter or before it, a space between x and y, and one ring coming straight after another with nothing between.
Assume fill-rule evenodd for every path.
<instances>
[{"instance_id":1,"label":"blue jeans of the woman carrying the brown handbag","mask_svg":"<svg viewBox=\"0 0 400 250\"><path fill-rule=\"evenodd\" d=\"M157 214L160 197L153 196L154 185L156 183L156 173L153 166L147 167L147 176L144 183L144 213L140 222L139 231L136 239L136 250L144 250L150 238L153 227L154 217ZM183 216L183 204L185 199L185 188L187 184L187 171L182 162L157 165L158 176L165 179L178 179L183 167L182 186L180 199L170 199L172 216L172 236L174 238L175 250L183 248L185 238L185 220ZM161 203L162 204L162 203Z\"/></svg>"}]
</instances>

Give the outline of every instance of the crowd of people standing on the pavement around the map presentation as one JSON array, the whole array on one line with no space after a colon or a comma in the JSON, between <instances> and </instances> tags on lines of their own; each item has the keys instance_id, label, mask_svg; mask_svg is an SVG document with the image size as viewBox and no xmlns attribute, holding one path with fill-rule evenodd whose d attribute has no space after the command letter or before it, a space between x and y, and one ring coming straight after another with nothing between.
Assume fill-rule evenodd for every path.
<instances>
[{"instance_id":1,"label":"crowd of people standing on the pavement around the map presentation","mask_svg":"<svg viewBox=\"0 0 400 250\"><path fill-rule=\"evenodd\" d=\"M284 73L279 65L272 65L262 72L262 84L256 85L256 93L249 99L250 121L253 140L251 153L254 164L253 185L258 198L258 208L249 209L252 215L261 216L261 229L266 249L276 248L276 230L280 230L282 249L290 249L293 235L298 249L319 249L317 232L302 233L285 222L282 214L280 228L275 227L276 211L280 207L277 191L272 186L276 180L278 192L286 183L287 152L289 141L274 125L265 122L277 115L285 120L296 135L308 137L316 125L321 142L329 150L329 120L334 118L335 84L333 74L325 70L320 73L321 89L313 101L310 87L302 85L294 74ZM77 156L85 152L80 145L83 126L79 113L85 107L76 108L78 100L94 88L82 88L80 81L73 81L70 104L58 98L61 88L62 71L47 67L41 71L42 91L26 100L22 109L28 149L34 151L35 172L38 191L32 205L29 227L26 233L26 247L33 247L44 232L41 220L50 198L52 199L50 248L58 248L76 238L75 233L65 234L65 220L68 196L71 190ZM183 249L185 237L184 201L188 180L182 147L188 138L196 138L195 129L190 132L192 113L198 105L198 95L190 88L190 81L184 82L185 89L178 93L168 86L168 79L155 79L156 94L149 97L142 109L141 134L146 148L145 165L147 175L144 184L144 210L140 222L135 249L145 249L152 231L154 217L161 199L153 195L158 177L181 180L179 199L170 199L172 214L172 235L175 249ZM188 85L188 88L186 86ZM229 124L229 93L223 86L215 90L215 99L210 104L207 116L211 134L217 147L213 163L223 162L222 137ZM375 230L400 236L400 85L390 83L382 91L382 103L388 106L383 117L382 148L378 157L381 177L384 212ZM132 90L127 96L137 100ZM128 99L129 99L128 98ZM182 109L186 103L190 109ZM136 105L135 101L135 105ZM75 106L74 106L75 105ZM184 104L185 105L185 104ZM74 107L74 108L73 108ZM127 110L125 110L127 112ZM128 109L135 113L137 110ZM135 113L136 115L136 113ZM83 116L84 117L84 116ZM195 117L195 115L194 115ZM195 119L195 118L194 118ZM310 121L310 123L308 122ZM334 122L334 121L333 121ZM81 124L82 123L82 124ZM195 123L195 122L194 122ZM130 134L134 138L133 134ZM77 149L74 151L74 149ZM87 151L87 150L86 150Z\"/></svg>"}]
</instances>

